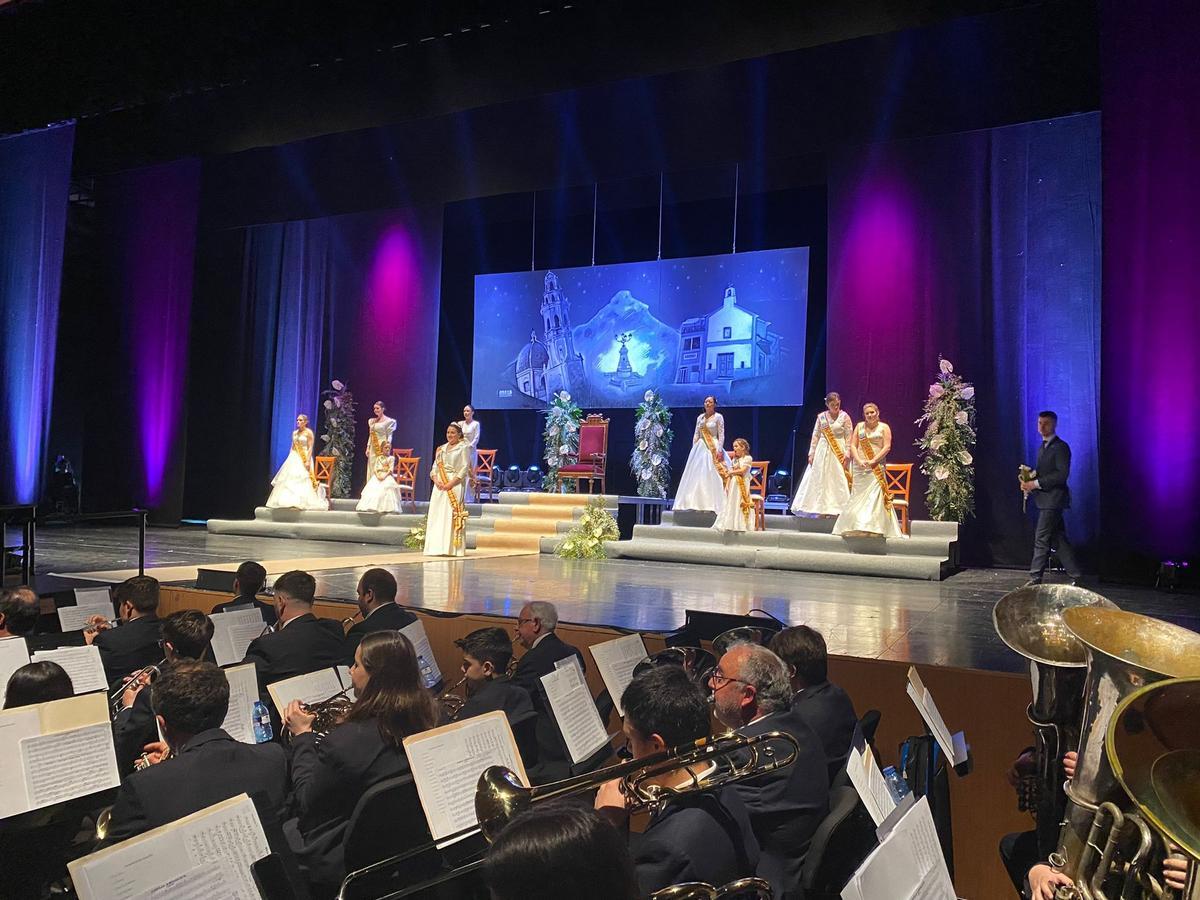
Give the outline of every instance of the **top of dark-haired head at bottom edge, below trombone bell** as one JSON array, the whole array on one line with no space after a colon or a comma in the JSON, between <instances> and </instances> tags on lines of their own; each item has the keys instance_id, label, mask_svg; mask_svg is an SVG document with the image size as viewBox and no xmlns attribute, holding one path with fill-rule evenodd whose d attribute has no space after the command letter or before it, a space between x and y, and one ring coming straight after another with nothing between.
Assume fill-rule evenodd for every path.
<instances>
[{"instance_id":1,"label":"top of dark-haired head at bottom edge, below trombone bell","mask_svg":"<svg viewBox=\"0 0 1200 900\"><path fill-rule=\"evenodd\" d=\"M594 810L548 802L517 815L487 851L492 900L636 900L629 847Z\"/></svg>"}]
</instances>

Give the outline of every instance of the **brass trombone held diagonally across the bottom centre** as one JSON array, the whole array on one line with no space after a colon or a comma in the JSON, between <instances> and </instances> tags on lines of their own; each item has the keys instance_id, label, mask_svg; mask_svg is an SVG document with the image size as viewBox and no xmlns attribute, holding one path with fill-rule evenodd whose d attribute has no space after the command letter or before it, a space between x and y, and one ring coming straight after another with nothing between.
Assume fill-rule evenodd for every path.
<instances>
[{"instance_id":1,"label":"brass trombone held diagonally across the bottom centre","mask_svg":"<svg viewBox=\"0 0 1200 900\"><path fill-rule=\"evenodd\" d=\"M778 755L776 748L779 745L787 748L782 756ZM796 762L798 752L799 744L796 738L785 732L770 731L755 736L731 732L720 737L701 738L641 760L617 763L586 775L576 775L536 787L526 787L516 773L504 766L490 766L479 776L479 785L475 788L478 824L350 872L342 882L337 896L338 900L346 900L352 886L360 878L377 875L388 869L402 871L407 860L427 853L439 844L444 846L444 842L479 834L482 834L485 840L491 842L514 816L542 800L593 791L606 781L620 779L620 791L626 798L626 808L631 812L653 811L678 797L713 791L791 766ZM702 774L694 773L694 768L701 769ZM677 787L656 784L656 779L664 779L672 774L686 774L688 780ZM379 900L394 900L419 894L436 884L474 871L482 864L482 858L464 863L449 872L388 894Z\"/></svg>"}]
</instances>

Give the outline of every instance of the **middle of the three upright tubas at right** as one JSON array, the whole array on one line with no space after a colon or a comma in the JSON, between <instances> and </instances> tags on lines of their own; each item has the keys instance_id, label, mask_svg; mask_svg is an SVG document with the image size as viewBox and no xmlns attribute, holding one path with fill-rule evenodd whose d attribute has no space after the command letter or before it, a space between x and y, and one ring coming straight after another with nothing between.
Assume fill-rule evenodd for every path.
<instances>
[{"instance_id":1,"label":"middle of the three upright tubas at right","mask_svg":"<svg viewBox=\"0 0 1200 900\"><path fill-rule=\"evenodd\" d=\"M1080 722L1079 762L1075 778L1067 786L1067 811L1058 848L1050 862L1075 881L1079 896L1104 898L1096 893L1087 868L1094 866L1103 882L1114 865L1117 847L1102 850L1093 862L1098 833L1109 820L1118 836L1128 816L1111 800L1120 794L1115 767L1105 754L1105 736L1115 727L1115 713L1122 702L1141 688L1168 678L1200 677L1200 634L1165 622L1118 610L1081 606L1064 610L1063 622L1087 653L1087 680L1084 688L1084 716ZM1194 715L1194 713L1193 713ZM1187 716L1186 716L1187 718ZM1129 721L1138 722L1138 718ZM1140 802L1140 797L1139 797ZM1108 804L1108 805L1104 805ZM1100 820L1098 823L1097 820ZM1140 817L1134 824L1140 832L1141 850L1126 857L1129 869L1146 866L1150 829ZM1115 839L1116 840L1116 839ZM1102 871L1103 870L1103 871ZM1080 881L1081 876L1084 881ZM1148 895L1156 894L1151 893Z\"/></svg>"}]
</instances>

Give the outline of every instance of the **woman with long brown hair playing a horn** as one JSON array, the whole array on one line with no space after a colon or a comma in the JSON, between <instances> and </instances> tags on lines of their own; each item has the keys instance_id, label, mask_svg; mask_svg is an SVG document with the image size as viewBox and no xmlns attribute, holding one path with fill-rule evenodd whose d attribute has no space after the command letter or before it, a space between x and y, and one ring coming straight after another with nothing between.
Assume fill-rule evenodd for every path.
<instances>
[{"instance_id":1,"label":"woman with long brown hair playing a horn","mask_svg":"<svg viewBox=\"0 0 1200 900\"><path fill-rule=\"evenodd\" d=\"M320 886L336 886L346 876L342 841L364 791L407 773L403 739L432 728L438 716L436 700L421 686L413 644L398 631L362 638L350 680L358 700L319 744L312 731L316 716L299 701L284 713L293 736L290 811L296 817L284 830L301 869Z\"/></svg>"}]
</instances>

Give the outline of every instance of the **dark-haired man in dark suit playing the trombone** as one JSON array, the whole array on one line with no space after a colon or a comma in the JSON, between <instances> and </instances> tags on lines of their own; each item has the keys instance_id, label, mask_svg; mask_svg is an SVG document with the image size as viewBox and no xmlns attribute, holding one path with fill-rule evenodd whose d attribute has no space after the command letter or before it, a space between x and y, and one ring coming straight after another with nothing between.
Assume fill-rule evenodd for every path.
<instances>
[{"instance_id":1,"label":"dark-haired man in dark suit playing the trombone","mask_svg":"<svg viewBox=\"0 0 1200 900\"><path fill-rule=\"evenodd\" d=\"M679 666L643 672L625 689L625 737L642 758L709 736L708 702ZM686 772L662 780L685 785ZM595 808L613 824L629 822L619 781L596 794ZM758 842L746 808L732 787L688 794L655 810L642 834L630 835L630 852L642 896L686 881L725 884L749 877L758 865Z\"/></svg>"}]
</instances>

